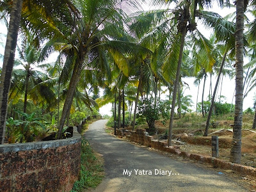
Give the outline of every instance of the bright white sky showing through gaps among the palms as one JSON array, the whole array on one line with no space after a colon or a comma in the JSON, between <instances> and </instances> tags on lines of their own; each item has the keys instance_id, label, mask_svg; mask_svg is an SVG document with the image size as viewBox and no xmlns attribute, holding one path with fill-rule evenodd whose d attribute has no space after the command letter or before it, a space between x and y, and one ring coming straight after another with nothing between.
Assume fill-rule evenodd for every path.
<instances>
[{"instance_id":1,"label":"bright white sky showing through gaps among the palms","mask_svg":"<svg viewBox=\"0 0 256 192\"><path fill-rule=\"evenodd\" d=\"M145 10L149 10L152 9L150 7L148 7L147 5L143 5L143 8ZM227 15L228 13L232 13L235 12L235 8L223 8L221 9L220 7L218 7L218 5L216 3L213 4L212 8L209 9L209 11L212 12L216 12L218 14L220 14L222 17L225 17L225 15ZM204 26L198 24L198 28L200 29L200 31L203 32L203 34L207 37L209 37L212 33L211 30L209 29L205 29ZM4 43L5 44L5 38L4 35L2 34L6 34L7 30L6 27L4 26L3 23L0 23L0 43ZM4 45L0 44L0 54L4 54ZM48 61L54 61L56 59L57 54L52 54L51 58L49 58ZM17 57L17 54L16 54ZM248 60L245 58L244 59L244 64L246 64L248 62ZM0 67L2 67L3 65L3 61L0 61ZM193 100L193 107L191 108L193 111L195 111L195 105L196 105L196 95L198 92L198 87L196 87L193 84L193 81L195 79L194 78L185 78L183 79L184 82L186 82L187 84L189 84L189 88L186 88L184 95L191 95L192 96L192 100ZM212 77L212 88L214 89L215 86L215 81L216 81L216 77ZM210 84L210 78L207 78L206 84L205 84L205 97L204 100L207 99L207 95L209 95L209 84ZM203 87L203 83L200 84L199 87L199 93L198 93L198 102L200 102L202 100L202 87ZM222 94L224 95L227 99L224 100L224 102L228 102L231 103L232 99L233 99L233 94L234 94L234 88L235 88L235 79L229 79L228 77L224 77L223 79L223 88L222 88ZM213 92L212 89L212 92ZM218 89L219 92L217 93L217 98L218 95L220 95L220 88ZM252 108L253 107L253 96L254 96L255 90L252 90L252 92L250 92L250 94L248 94L248 96L244 99L244 104L243 104L243 110L247 109L247 108ZM166 95L162 95L161 99L167 99ZM233 100L233 104L235 102L235 99ZM112 106L111 104L108 104L106 106L103 106L102 108L100 108L100 113L102 115L111 115L111 110Z\"/></svg>"}]
</instances>

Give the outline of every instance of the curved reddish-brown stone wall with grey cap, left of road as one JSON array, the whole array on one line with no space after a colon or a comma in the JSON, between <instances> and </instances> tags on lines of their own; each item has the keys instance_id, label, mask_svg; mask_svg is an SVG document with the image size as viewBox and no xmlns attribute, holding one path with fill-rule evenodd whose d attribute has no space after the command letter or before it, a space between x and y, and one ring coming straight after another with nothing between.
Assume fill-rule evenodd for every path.
<instances>
[{"instance_id":1,"label":"curved reddish-brown stone wall with grey cap, left of road","mask_svg":"<svg viewBox=\"0 0 256 192\"><path fill-rule=\"evenodd\" d=\"M70 191L79 177L81 135L0 145L0 191Z\"/></svg>"}]
</instances>

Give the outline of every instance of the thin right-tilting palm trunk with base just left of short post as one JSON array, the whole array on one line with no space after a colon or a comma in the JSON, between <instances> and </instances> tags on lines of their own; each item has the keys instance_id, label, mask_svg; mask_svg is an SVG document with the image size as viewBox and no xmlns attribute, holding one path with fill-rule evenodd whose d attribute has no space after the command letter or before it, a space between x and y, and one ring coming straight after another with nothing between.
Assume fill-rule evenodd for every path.
<instances>
[{"instance_id":1,"label":"thin right-tilting palm trunk with base just left of short post","mask_svg":"<svg viewBox=\"0 0 256 192\"><path fill-rule=\"evenodd\" d=\"M227 56L227 51L225 52L225 54L223 56L222 63L221 63L221 66L220 66L220 71L219 71L219 74L218 74L218 77L217 77L217 80L216 80L214 92L213 92L213 95L212 95L211 107L209 109L209 114L208 114L206 125L205 125L204 136L208 136L208 130L209 130L209 125L210 125L210 120L211 120L211 115L212 115L212 109L213 109L213 106L214 106L215 95L216 95L216 92L217 92L217 88L218 88L218 84L219 84L219 81L220 81L221 72L222 72L222 69L223 69L223 66L224 66L224 63L225 63L225 60L226 60L226 56Z\"/></svg>"}]
</instances>

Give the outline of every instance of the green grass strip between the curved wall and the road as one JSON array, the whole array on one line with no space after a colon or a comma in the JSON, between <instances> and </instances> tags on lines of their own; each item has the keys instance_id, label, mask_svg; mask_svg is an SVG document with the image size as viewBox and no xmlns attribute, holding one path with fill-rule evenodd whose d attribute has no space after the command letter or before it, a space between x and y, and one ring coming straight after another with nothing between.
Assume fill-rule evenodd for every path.
<instances>
[{"instance_id":1,"label":"green grass strip between the curved wall and the road","mask_svg":"<svg viewBox=\"0 0 256 192\"><path fill-rule=\"evenodd\" d=\"M74 183L72 192L88 191L96 188L104 178L103 159L92 150L87 140L82 139L81 170L79 180Z\"/></svg>"}]
</instances>

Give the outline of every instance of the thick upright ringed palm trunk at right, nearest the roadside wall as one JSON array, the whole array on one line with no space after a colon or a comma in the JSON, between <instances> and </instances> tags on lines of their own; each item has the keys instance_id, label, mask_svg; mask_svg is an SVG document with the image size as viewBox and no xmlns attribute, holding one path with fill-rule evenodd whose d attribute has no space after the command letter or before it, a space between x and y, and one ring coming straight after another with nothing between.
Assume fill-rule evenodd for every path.
<instances>
[{"instance_id":1,"label":"thick upright ringed palm trunk at right, nearest the roadside wall","mask_svg":"<svg viewBox=\"0 0 256 192\"><path fill-rule=\"evenodd\" d=\"M243 120L243 30L244 1L236 1L236 105L230 161L241 163L241 129Z\"/></svg>"}]
</instances>

